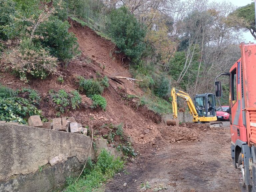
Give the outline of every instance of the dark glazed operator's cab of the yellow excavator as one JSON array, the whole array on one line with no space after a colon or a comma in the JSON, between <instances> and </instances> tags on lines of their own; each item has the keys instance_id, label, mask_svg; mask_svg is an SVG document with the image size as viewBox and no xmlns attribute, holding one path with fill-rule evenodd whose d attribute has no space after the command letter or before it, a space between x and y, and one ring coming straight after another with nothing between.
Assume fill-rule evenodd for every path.
<instances>
[{"instance_id":1,"label":"dark glazed operator's cab of the yellow excavator","mask_svg":"<svg viewBox=\"0 0 256 192\"><path fill-rule=\"evenodd\" d=\"M215 95L205 93L195 96L195 107L199 117L214 117L216 116Z\"/></svg>"}]
</instances>

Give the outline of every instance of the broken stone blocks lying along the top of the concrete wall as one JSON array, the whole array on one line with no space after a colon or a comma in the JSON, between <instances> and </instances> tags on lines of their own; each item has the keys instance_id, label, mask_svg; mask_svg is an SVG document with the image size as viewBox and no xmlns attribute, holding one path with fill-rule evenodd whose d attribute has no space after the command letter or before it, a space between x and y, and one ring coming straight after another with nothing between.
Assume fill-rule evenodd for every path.
<instances>
[{"instance_id":1,"label":"broken stone blocks lying along the top of the concrete wall","mask_svg":"<svg viewBox=\"0 0 256 192\"><path fill-rule=\"evenodd\" d=\"M0 123L6 123L6 121L1 121ZM15 122L7 123L18 124ZM87 135L87 126L77 123L74 117L54 118L49 122L43 123L39 115L32 115L28 119L28 126Z\"/></svg>"}]
</instances>

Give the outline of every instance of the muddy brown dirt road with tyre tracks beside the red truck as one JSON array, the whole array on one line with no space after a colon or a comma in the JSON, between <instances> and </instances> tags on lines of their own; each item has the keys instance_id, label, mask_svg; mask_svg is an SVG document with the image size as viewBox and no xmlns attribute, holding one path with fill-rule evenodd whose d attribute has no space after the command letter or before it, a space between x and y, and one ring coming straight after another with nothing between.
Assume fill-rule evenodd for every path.
<instances>
[{"instance_id":1,"label":"muddy brown dirt road with tyre tracks beside the red truck","mask_svg":"<svg viewBox=\"0 0 256 192\"><path fill-rule=\"evenodd\" d=\"M227 124L225 124L227 125ZM239 192L237 170L231 162L229 127L203 133L202 141L168 143L150 154L142 154L117 174L105 192ZM124 186L127 183L126 186ZM143 184L144 183L144 184ZM145 189L145 188L144 188Z\"/></svg>"}]
</instances>

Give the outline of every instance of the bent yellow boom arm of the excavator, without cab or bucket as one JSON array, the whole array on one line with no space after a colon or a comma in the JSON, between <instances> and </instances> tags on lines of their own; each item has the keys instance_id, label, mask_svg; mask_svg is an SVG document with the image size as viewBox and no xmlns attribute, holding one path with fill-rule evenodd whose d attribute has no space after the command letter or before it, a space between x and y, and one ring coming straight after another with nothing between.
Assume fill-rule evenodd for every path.
<instances>
[{"instance_id":1,"label":"bent yellow boom arm of the excavator, without cab or bucket","mask_svg":"<svg viewBox=\"0 0 256 192\"><path fill-rule=\"evenodd\" d=\"M178 110L177 110L177 96L183 98L184 100L186 100L187 104L188 104L188 108L190 113L193 115L193 119L194 122L198 121L198 114L195 108L195 105L191 99L191 97L189 96L189 94L177 90L174 87L171 90L171 97L172 97L172 110L173 110L173 119L177 119L178 118Z\"/></svg>"}]
</instances>

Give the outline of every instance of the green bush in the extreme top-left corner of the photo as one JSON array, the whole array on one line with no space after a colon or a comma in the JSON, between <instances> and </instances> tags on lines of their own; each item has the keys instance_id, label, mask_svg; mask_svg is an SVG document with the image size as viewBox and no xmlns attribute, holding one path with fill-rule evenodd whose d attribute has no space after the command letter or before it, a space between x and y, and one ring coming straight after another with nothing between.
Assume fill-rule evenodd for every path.
<instances>
[{"instance_id":1,"label":"green bush in the extreme top-left corner of the photo","mask_svg":"<svg viewBox=\"0 0 256 192\"><path fill-rule=\"evenodd\" d=\"M0 0L0 39L8 39L5 31L14 22L15 3L12 0Z\"/></svg>"}]
</instances>

